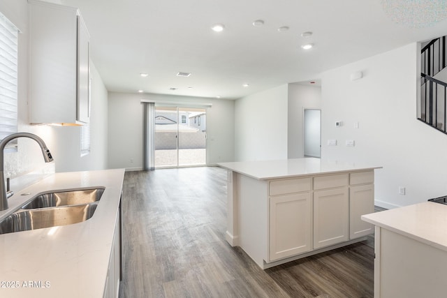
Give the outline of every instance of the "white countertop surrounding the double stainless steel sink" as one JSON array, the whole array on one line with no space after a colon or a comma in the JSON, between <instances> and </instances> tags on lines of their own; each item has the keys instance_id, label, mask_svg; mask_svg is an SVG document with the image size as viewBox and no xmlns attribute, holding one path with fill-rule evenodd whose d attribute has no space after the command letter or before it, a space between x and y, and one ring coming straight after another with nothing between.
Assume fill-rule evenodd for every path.
<instances>
[{"instance_id":1,"label":"white countertop surrounding the double stainless steel sink","mask_svg":"<svg viewBox=\"0 0 447 298\"><path fill-rule=\"evenodd\" d=\"M85 222L60 226L53 234L52 228L0 234L0 297L103 297L123 179L122 169L56 173L15 193L0 219L38 193L105 187ZM16 281L19 288L8 288L6 283ZM29 281L41 282L41 288L24 288Z\"/></svg>"}]
</instances>

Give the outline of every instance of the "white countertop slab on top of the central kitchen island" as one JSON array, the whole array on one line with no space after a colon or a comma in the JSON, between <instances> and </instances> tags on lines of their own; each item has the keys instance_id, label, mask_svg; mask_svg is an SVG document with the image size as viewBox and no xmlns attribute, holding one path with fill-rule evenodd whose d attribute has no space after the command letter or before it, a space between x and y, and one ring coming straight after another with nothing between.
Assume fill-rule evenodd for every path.
<instances>
[{"instance_id":1,"label":"white countertop slab on top of the central kitchen island","mask_svg":"<svg viewBox=\"0 0 447 298\"><path fill-rule=\"evenodd\" d=\"M381 168L359 163L325 161L320 158L295 158L280 161L240 161L234 163L218 163L217 165L258 180Z\"/></svg>"}]
</instances>

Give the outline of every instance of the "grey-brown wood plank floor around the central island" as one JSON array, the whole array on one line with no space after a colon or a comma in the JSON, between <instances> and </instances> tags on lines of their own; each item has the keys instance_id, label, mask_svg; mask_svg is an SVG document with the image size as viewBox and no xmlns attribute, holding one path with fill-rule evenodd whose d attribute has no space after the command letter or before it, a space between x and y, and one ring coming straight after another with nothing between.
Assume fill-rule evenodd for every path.
<instances>
[{"instance_id":1,"label":"grey-brown wood plank floor around the central island","mask_svg":"<svg viewBox=\"0 0 447 298\"><path fill-rule=\"evenodd\" d=\"M226 171L126 172L119 297L373 297L374 237L271 269L226 241Z\"/></svg>"}]
</instances>

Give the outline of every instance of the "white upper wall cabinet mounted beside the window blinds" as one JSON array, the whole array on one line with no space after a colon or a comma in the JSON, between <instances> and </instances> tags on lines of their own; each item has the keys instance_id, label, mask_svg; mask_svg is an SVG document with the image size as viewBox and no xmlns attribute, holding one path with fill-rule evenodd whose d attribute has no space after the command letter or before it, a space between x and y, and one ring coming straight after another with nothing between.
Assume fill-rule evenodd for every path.
<instances>
[{"instance_id":1,"label":"white upper wall cabinet mounted beside the window blinds","mask_svg":"<svg viewBox=\"0 0 447 298\"><path fill-rule=\"evenodd\" d=\"M89 33L77 8L28 0L32 124L87 124Z\"/></svg>"}]
</instances>

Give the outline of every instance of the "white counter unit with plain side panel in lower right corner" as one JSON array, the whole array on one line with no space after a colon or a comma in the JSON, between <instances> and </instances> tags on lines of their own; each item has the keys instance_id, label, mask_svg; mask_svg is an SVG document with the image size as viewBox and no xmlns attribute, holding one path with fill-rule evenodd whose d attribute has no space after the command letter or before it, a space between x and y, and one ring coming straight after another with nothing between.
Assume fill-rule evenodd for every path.
<instances>
[{"instance_id":1,"label":"white counter unit with plain side panel in lower right corner","mask_svg":"<svg viewBox=\"0 0 447 298\"><path fill-rule=\"evenodd\" d=\"M422 202L362 219L376 225L374 297L447 296L447 205Z\"/></svg>"}]
</instances>

